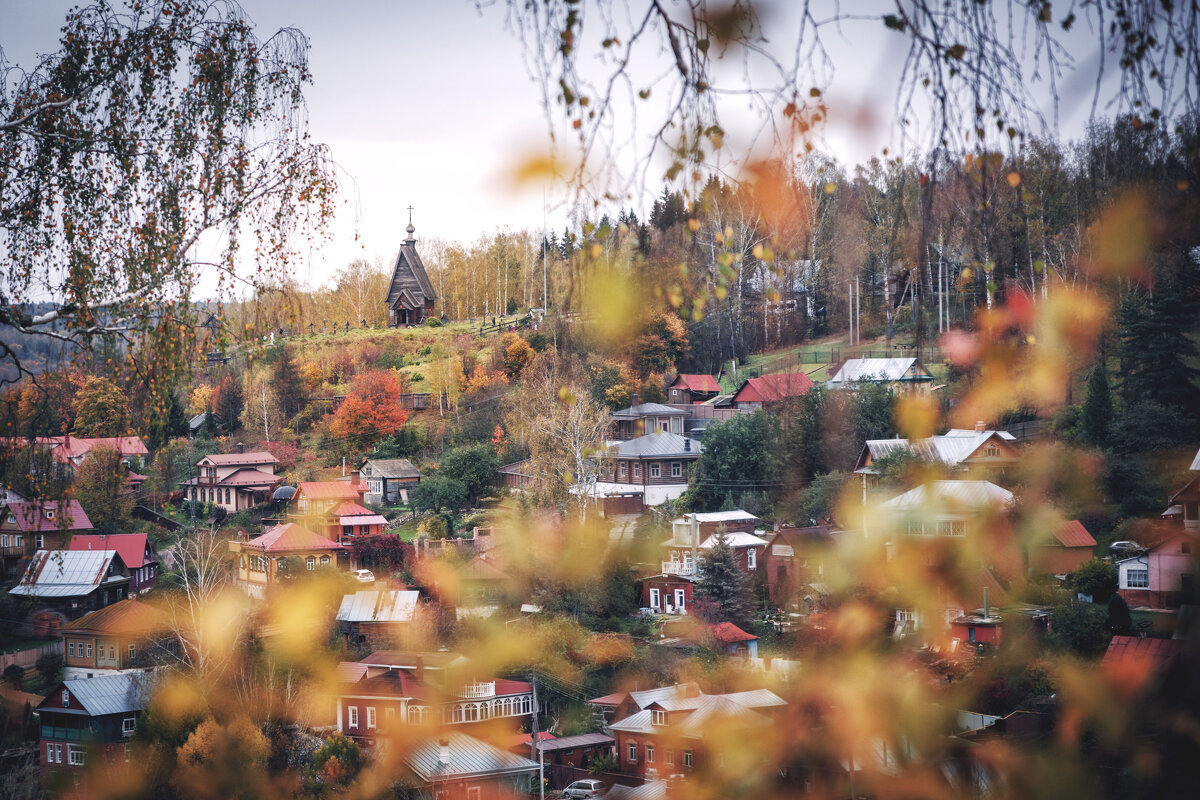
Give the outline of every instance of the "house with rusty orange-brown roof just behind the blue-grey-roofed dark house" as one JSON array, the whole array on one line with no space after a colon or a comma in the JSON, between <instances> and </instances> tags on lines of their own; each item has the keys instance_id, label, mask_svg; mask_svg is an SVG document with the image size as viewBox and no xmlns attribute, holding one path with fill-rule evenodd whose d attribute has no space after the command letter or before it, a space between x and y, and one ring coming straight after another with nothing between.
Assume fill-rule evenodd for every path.
<instances>
[{"instance_id":1,"label":"house with rusty orange-brown roof just behind the blue-grey-roofed dark house","mask_svg":"<svg viewBox=\"0 0 1200 800\"><path fill-rule=\"evenodd\" d=\"M168 630L161 610L133 597L85 614L62 626L62 676L143 670L146 648Z\"/></svg>"}]
</instances>

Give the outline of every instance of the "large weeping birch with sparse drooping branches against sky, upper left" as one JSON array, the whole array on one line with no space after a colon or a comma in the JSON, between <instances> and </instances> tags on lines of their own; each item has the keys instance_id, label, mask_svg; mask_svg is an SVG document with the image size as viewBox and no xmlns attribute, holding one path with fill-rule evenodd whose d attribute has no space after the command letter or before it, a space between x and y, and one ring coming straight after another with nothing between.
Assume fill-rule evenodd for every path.
<instances>
[{"instance_id":1,"label":"large weeping birch with sparse drooping branches against sky, upper left","mask_svg":"<svg viewBox=\"0 0 1200 800\"><path fill-rule=\"evenodd\" d=\"M331 215L308 41L259 38L234 2L100 0L68 12L59 43L23 67L0 58L0 326L120 354L162 401L190 360L202 270L218 296L265 285ZM54 301L34 313L31 296ZM7 342L0 360L26 371Z\"/></svg>"}]
</instances>

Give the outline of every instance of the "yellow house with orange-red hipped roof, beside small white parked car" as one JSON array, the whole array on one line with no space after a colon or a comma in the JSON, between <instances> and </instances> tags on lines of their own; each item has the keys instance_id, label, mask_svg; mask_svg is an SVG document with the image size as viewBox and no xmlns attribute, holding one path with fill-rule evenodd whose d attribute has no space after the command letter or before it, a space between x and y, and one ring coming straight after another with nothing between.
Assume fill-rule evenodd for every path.
<instances>
[{"instance_id":1,"label":"yellow house with orange-red hipped roof, beside small white parked car","mask_svg":"<svg viewBox=\"0 0 1200 800\"><path fill-rule=\"evenodd\" d=\"M268 587L288 573L349 566L346 547L290 522L256 539L229 542L229 552L238 559L235 582L259 600L266 596Z\"/></svg>"}]
</instances>

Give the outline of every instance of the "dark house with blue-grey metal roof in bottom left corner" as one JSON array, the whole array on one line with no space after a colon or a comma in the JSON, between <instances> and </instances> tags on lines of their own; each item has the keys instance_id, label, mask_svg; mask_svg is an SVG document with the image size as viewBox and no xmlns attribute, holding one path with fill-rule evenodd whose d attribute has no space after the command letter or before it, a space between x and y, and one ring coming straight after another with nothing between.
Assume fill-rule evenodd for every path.
<instances>
[{"instance_id":1,"label":"dark house with blue-grey metal roof in bottom left corner","mask_svg":"<svg viewBox=\"0 0 1200 800\"><path fill-rule=\"evenodd\" d=\"M150 699L146 673L64 680L38 703L42 786L55 796L84 798L86 771L98 760L126 759L137 720Z\"/></svg>"}]
</instances>

